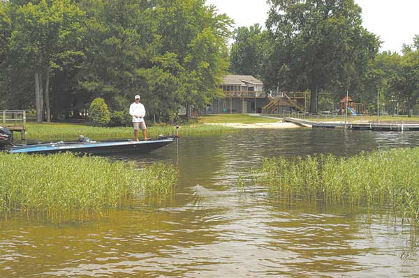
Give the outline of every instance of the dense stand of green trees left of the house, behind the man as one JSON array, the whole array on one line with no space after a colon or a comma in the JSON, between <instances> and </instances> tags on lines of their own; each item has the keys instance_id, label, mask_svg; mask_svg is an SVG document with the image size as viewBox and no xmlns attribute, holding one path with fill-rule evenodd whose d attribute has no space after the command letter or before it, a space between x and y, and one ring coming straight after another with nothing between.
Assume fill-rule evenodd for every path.
<instances>
[{"instance_id":1,"label":"dense stand of green trees left of the house, behind the man","mask_svg":"<svg viewBox=\"0 0 419 278\"><path fill-rule=\"evenodd\" d=\"M98 97L121 110L136 94L168 121L219 95L231 23L203 0L1 2L1 91L38 121L50 107L78 116Z\"/></svg>"}]
</instances>

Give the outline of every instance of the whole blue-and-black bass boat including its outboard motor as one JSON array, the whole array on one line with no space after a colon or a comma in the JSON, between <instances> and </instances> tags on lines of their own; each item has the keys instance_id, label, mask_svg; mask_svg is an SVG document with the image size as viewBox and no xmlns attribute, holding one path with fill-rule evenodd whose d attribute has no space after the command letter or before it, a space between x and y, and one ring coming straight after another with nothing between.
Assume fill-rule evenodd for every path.
<instances>
[{"instance_id":1,"label":"whole blue-and-black bass boat including its outboard motor","mask_svg":"<svg viewBox=\"0 0 419 278\"><path fill-rule=\"evenodd\" d=\"M90 155L108 155L117 153L149 153L152 150L166 146L179 136L163 136L149 141L93 141L80 135L78 141L57 141L50 143L13 145L13 132L0 126L0 150L7 153L81 153Z\"/></svg>"}]
</instances>

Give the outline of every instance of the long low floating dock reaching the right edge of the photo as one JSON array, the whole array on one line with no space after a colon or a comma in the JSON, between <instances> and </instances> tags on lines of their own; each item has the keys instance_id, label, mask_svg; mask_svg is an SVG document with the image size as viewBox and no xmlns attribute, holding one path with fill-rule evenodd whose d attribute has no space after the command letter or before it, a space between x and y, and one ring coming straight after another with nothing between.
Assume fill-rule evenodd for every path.
<instances>
[{"instance_id":1,"label":"long low floating dock reaching the right edge of the photo","mask_svg":"<svg viewBox=\"0 0 419 278\"><path fill-rule=\"evenodd\" d=\"M419 123L328 123L302 120L300 118L284 118L288 123L295 123L311 128L346 128L348 130L376 131L413 131L419 130Z\"/></svg>"}]
</instances>

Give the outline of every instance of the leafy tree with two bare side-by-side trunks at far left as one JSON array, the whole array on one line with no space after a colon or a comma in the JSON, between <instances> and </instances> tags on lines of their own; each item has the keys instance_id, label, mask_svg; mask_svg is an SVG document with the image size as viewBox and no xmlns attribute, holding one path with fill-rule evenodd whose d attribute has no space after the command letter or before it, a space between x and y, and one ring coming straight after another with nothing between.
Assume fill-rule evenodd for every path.
<instances>
[{"instance_id":1,"label":"leafy tree with two bare side-by-side trunks at far left","mask_svg":"<svg viewBox=\"0 0 419 278\"><path fill-rule=\"evenodd\" d=\"M50 122L50 77L69 56L82 53L80 45L83 13L71 0L10 1L13 13L11 55L33 71L36 121L43 120L43 107Z\"/></svg>"}]
</instances>

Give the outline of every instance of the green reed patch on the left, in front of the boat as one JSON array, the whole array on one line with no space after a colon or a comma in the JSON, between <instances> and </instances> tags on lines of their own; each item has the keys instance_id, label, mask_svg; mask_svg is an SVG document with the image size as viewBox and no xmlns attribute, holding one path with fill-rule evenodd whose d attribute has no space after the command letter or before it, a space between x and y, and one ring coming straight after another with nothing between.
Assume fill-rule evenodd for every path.
<instances>
[{"instance_id":1,"label":"green reed patch on the left, in front of the boat","mask_svg":"<svg viewBox=\"0 0 419 278\"><path fill-rule=\"evenodd\" d=\"M0 153L0 215L45 215L56 222L111 213L138 195L165 196L177 183L175 167L103 157Z\"/></svg>"}]
</instances>

